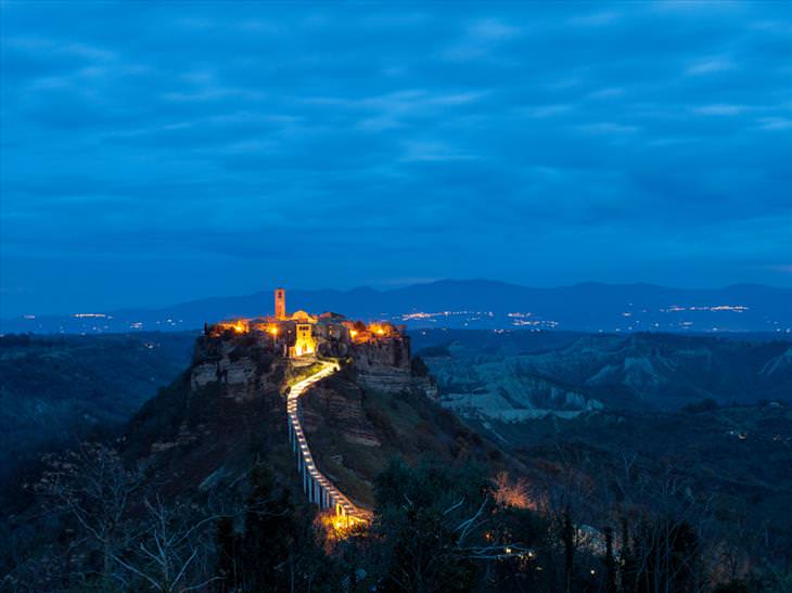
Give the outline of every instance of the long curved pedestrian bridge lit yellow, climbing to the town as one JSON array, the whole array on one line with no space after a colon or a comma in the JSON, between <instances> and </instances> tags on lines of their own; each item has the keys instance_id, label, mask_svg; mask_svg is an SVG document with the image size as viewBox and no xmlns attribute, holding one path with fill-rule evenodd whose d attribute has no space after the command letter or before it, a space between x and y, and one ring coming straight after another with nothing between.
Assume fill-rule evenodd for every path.
<instances>
[{"instance_id":1,"label":"long curved pedestrian bridge lit yellow, climbing to the town","mask_svg":"<svg viewBox=\"0 0 792 593\"><path fill-rule=\"evenodd\" d=\"M286 400L286 416L289 422L289 439L297 459L297 472L303 482L303 490L308 501L319 505L321 510L332 510L336 517L346 519L347 526L358 523L368 523L369 513L353 504L335 485L324 476L314 463L314 456L308 448L308 440L301 423L299 398L315 383L332 375L340 370L337 363L319 361L321 369L312 375L292 385Z\"/></svg>"}]
</instances>

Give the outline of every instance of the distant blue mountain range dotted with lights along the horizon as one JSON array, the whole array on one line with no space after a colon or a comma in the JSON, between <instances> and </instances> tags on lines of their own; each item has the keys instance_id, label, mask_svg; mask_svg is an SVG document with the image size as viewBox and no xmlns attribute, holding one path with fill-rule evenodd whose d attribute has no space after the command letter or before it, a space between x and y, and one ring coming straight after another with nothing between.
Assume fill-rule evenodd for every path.
<instances>
[{"instance_id":1,"label":"distant blue mountain range dotted with lights along the horizon","mask_svg":"<svg viewBox=\"0 0 792 593\"><path fill-rule=\"evenodd\" d=\"M378 291L289 291L289 310L418 327L571 330L582 332L792 332L792 288L736 284L668 288L583 283L534 288L489 280L444 280ZM0 320L3 333L106 333L194 330L204 322L272 312L271 293L213 297L161 309L75 311Z\"/></svg>"}]
</instances>

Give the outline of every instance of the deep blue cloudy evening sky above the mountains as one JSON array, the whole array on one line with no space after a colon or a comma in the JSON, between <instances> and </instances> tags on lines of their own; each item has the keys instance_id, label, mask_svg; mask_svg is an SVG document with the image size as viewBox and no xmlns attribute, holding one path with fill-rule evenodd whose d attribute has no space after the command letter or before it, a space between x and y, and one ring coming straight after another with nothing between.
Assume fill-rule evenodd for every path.
<instances>
[{"instance_id":1,"label":"deep blue cloudy evening sky above the mountains","mask_svg":"<svg viewBox=\"0 0 792 593\"><path fill-rule=\"evenodd\" d=\"M1 314L792 286L790 7L2 2Z\"/></svg>"}]
</instances>

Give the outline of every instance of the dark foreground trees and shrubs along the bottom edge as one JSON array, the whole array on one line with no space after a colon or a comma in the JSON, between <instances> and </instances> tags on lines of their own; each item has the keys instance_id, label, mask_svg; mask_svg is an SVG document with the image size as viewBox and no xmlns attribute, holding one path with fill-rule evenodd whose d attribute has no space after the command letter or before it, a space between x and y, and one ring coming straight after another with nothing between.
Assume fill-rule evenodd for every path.
<instances>
[{"instance_id":1,"label":"dark foreground trees and shrubs along the bottom edge","mask_svg":"<svg viewBox=\"0 0 792 593\"><path fill-rule=\"evenodd\" d=\"M3 586L783 593L790 582L779 565L736 578L706 507L670 476L623 482L624 500L605 501L619 514L592 527L582 519L597 501L574 473L559 476L539 501L506 474L394 460L375 479L372 525L343 540L328 539L312 507L264 461L250 467L237 495L166 498L143 476L106 446L52 457L35 485L47 519L5 540Z\"/></svg>"}]
</instances>

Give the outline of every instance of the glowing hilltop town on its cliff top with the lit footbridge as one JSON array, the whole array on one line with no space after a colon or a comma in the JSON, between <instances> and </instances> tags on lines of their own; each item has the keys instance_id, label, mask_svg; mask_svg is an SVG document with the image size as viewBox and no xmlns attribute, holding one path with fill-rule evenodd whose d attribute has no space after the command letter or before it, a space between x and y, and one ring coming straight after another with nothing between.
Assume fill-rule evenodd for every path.
<instances>
[{"instance_id":1,"label":"glowing hilltop town on its cliff top with the lit footbridge","mask_svg":"<svg viewBox=\"0 0 792 593\"><path fill-rule=\"evenodd\" d=\"M336 527L366 523L370 513L319 469L302 423L301 396L342 365L354 370L360 387L385 394L418 390L431 397L437 395L427 373L413 369L404 326L366 324L334 312L289 313L284 288L274 291L272 315L207 324L193 362L193 392L220 384L223 398L238 402L255 400L272 390L286 396L289 438L303 491L321 510L332 510L329 520ZM349 434L359 431L362 410L356 404L345 405ZM366 433L371 430L363 429L367 446L379 443Z\"/></svg>"}]
</instances>

